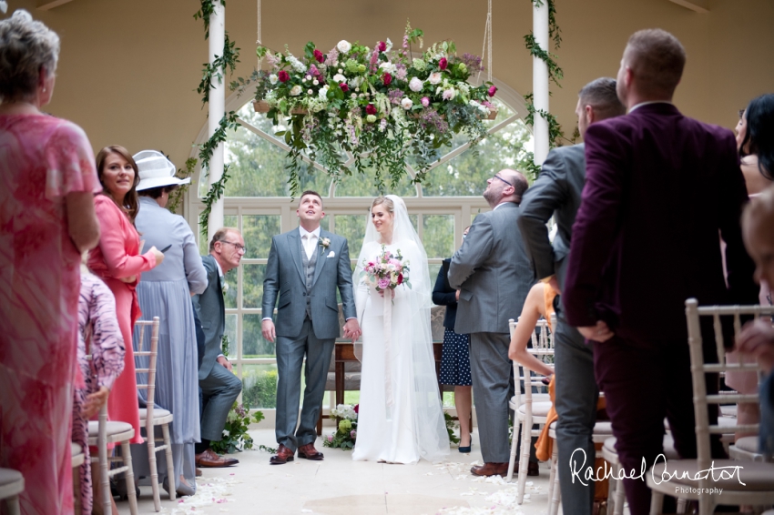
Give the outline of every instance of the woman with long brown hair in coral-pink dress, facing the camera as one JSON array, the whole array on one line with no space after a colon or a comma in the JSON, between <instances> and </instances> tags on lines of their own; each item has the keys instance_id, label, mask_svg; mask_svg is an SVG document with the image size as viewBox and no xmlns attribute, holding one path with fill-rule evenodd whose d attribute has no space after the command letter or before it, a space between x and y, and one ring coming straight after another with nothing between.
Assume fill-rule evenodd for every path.
<instances>
[{"instance_id":1,"label":"woman with long brown hair in coral-pink dress, facing the camera","mask_svg":"<svg viewBox=\"0 0 774 515\"><path fill-rule=\"evenodd\" d=\"M156 247L140 255L139 234L135 228L137 202L137 165L123 146L106 146L97 154L97 176L102 194L94 200L99 228L99 246L88 257L88 268L105 281L116 297L116 316L121 336L132 341L132 329L140 316L137 302L137 280L141 272L160 265L164 255ZM142 443L137 406L135 359L130 345L124 355L124 373L113 386L107 399L107 417L132 425L135 438Z\"/></svg>"}]
</instances>

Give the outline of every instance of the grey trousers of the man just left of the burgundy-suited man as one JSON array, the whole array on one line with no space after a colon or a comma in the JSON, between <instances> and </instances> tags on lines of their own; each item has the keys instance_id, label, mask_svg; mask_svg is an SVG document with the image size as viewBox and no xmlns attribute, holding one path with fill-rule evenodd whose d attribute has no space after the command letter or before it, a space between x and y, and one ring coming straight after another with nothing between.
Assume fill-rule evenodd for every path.
<instances>
[{"instance_id":1,"label":"grey trousers of the man just left of the burgundy-suited man","mask_svg":"<svg viewBox=\"0 0 774 515\"><path fill-rule=\"evenodd\" d=\"M596 450L591 439L596 423L596 400L599 389L594 376L594 352L586 345L577 329L558 318L554 333L555 345L555 409L556 444L559 446L559 487L565 513L590 515L594 507L594 481L586 486L571 470L586 477L586 469L594 467ZM576 450L579 449L579 450ZM581 452L581 450L583 452ZM573 454L575 453L575 454ZM586 465L582 467L586 453ZM571 461L572 459L572 461Z\"/></svg>"}]
</instances>

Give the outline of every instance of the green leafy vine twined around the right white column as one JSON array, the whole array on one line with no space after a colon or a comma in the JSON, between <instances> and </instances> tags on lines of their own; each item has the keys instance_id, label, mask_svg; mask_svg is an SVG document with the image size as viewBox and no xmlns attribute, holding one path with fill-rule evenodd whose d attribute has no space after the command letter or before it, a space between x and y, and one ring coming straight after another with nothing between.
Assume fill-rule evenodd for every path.
<instances>
[{"instance_id":1,"label":"green leafy vine twined around the right white column","mask_svg":"<svg viewBox=\"0 0 774 515\"><path fill-rule=\"evenodd\" d=\"M556 24L556 6L554 4L554 0L530 0L532 2L532 5L535 5L535 7L542 7L545 5L544 2L547 2L548 5L548 35L550 39L554 41L554 48L558 49L559 46L562 45L562 31L559 28L559 25ZM562 71L562 68L559 67L558 64L556 64L556 59L558 56L555 54L552 54L548 51L547 48L542 48L540 45L538 45L537 41L535 41L535 35L532 33L532 31L529 32L529 34L524 35L524 46L527 50L529 50L529 53L531 56L535 56L538 59L543 60L546 66L548 66L548 78L550 81L552 81L556 86L562 87L561 84L559 84L559 81L565 78L564 72ZM524 122L528 126L535 126L535 114L538 116L543 116L546 122L548 122L548 144L551 148L554 148L555 146L561 145L561 140L565 139L565 132L562 130L561 124L559 124L558 120L556 119L556 116L552 115L548 111L545 111L545 109L535 109L535 104L533 102L533 99L535 96L532 93L529 93L524 96L524 101L526 102L526 109L527 109L527 116L524 118ZM573 139L567 140L571 143L575 142L575 134L573 134ZM534 157L534 156L533 156ZM532 173L533 179L537 178L537 176L540 174L540 167L538 165L535 165L534 158L531 157L529 159L530 166L529 172Z\"/></svg>"}]
</instances>

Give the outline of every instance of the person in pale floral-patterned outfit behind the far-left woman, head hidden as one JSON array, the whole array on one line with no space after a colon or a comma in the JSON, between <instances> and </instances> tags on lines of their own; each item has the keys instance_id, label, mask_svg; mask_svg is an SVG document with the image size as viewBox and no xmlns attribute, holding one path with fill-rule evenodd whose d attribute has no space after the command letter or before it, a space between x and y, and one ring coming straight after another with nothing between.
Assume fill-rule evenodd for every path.
<instances>
[{"instance_id":1,"label":"person in pale floral-patterned outfit behind the far-left woman, head hidden","mask_svg":"<svg viewBox=\"0 0 774 515\"><path fill-rule=\"evenodd\" d=\"M91 361L87 356L91 354ZM124 369L124 338L118 328L116 299L105 283L81 268L78 302L78 366L85 383L76 387L73 441L84 449L80 466L81 513L92 510L92 473L88 449L88 419L105 404L113 383ZM98 480L95 480L97 483ZM97 504L101 499L97 499Z\"/></svg>"}]
</instances>

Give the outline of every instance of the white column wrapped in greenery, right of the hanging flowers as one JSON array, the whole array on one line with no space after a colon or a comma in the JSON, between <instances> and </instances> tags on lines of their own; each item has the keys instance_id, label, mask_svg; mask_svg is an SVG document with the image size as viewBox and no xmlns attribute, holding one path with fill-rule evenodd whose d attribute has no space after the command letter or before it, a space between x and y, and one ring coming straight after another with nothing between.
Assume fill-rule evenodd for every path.
<instances>
[{"instance_id":1,"label":"white column wrapped in greenery, right of the hanging flowers","mask_svg":"<svg viewBox=\"0 0 774 515\"><path fill-rule=\"evenodd\" d=\"M535 43L548 51L548 0L533 6L532 32ZM548 112L548 65L539 57L532 57L532 91L535 111ZM535 165L542 165L548 155L548 122L535 113Z\"/></svg>"}]
</instances>

